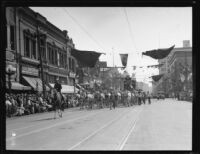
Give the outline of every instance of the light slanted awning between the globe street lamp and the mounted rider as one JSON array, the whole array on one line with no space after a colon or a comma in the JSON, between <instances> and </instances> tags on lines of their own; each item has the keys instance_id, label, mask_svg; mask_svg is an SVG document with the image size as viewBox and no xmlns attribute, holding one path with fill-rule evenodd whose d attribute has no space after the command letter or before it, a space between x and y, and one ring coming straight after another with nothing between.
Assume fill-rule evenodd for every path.
<instances>
[{"instance_id":1,"label":"light slanted awning between the globe street lamp and the mounted rider","mask_svg":"<svg viewBox=\"0 0 200 154\"><path fill-rule=\"evenodd\" d=\"M23 76L23 78L28 82L28 84L35 90L35 91L43 91L42 88L42 80L39 78L31 78ZM46 85L45 85L46 86ZM49 91L50 88L46 86L46 91Z\"/></svg>"}]
</instances>

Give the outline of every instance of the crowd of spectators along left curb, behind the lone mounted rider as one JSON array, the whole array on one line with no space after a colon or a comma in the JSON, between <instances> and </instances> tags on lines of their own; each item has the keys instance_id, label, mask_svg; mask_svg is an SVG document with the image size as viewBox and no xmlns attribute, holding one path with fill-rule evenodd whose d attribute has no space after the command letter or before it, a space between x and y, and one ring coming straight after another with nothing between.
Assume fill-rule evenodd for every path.
<instances>
[{"instance_id":1,"label":"crowd of spectators along left curb, behind the lone mounted rider","mask_svg":"<svg viewBox=\"0 0 200 154\"><path fill-rule=\"evenodd\" d=\"M65 108L77 106L73 95L65 96ZM35 113L49 112L53 110L53 102L50 94L44 98L42 94L8 94L6 99L6 116L22 116ZM68 101L69 100L69 101Z\"/></svg>"}]
</instances>

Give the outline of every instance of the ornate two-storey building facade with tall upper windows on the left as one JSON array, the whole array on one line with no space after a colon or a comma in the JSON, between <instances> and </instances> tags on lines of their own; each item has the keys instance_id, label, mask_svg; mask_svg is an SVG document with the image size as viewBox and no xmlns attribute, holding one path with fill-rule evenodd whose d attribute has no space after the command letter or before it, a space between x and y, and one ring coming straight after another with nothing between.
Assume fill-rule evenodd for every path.
<instances>
[{"instance_id":1,"label":"ornate two-storey building facade with tall upper windows on the left","mask_svg":"<svg viewBox=\"0 0 200 154\"><path fill-rule=\"evenodd\" d=\"M6 66L16 68L12 80L28 82L33 89L42 88L41 80L54 83L56 78L74 84L77 60L71 49L75 45L66 30L28 7L6 8L6 23Z\"/></svg>"}]
</instances>

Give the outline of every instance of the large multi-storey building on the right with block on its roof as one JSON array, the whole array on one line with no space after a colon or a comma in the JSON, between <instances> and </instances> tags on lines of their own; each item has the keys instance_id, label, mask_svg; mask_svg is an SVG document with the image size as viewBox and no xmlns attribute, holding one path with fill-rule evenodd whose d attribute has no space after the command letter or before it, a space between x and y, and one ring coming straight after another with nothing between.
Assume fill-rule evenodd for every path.
<instances>
[{"instance_id":1,"label":"large multi-storey building on the right with block on its roof","mask_svg":"<svg viewBox=\"0 0 200 154\"><path fill-rule=\"evenodd\" d=\"M159 70L163 77L154 83L155 93L164 91L174 96L192 92L192 47L189 41L183 41L183 47L174 48L165 59L159 60L159 64L163 61L166 70L161 70L162 67Z\"/></svg>"}]
</instances>

